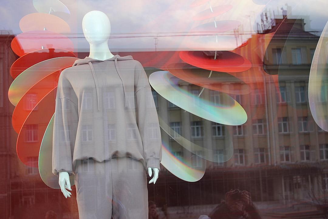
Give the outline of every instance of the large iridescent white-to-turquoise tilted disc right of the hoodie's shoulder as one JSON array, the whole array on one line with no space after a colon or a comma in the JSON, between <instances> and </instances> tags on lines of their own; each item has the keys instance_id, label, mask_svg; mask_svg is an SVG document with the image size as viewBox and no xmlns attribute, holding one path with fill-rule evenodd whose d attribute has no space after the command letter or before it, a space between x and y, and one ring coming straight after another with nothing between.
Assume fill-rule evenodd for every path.
<instances>
[{"instance_id":1,"label":"large iridescent white-to-turquoise tilted disc right of the hoodie's shoulder","mask_svg":"<svg viewBox=\"0 0 328 219\"><path fill-rule=\"evenodd\" d=\"M241 125L247 120L242 106L225 93L218 92L219 102L212 102L205 95L198 97L198 94L188 91L188 86L181 86L184 81L167 71L152 73L149 82L164 99L206 120L226 125Z\"/></svg>"}]
</instances>

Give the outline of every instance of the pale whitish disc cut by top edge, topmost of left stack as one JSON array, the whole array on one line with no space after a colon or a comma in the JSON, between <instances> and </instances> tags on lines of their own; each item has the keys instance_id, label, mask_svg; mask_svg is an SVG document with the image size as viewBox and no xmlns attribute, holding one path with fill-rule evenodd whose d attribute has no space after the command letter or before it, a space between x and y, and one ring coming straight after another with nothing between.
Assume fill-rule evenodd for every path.
<instances>
[{"instance_id":1,"label":"pale whitish disc cut by top edge, topmost of left stack","mask_svg":"<svg viewBox=\"0 0 328 219\"><path fill-rule=\"evenodd\" d=\"M71 15L70 10L59 0L33 0L33 6L38 12L50 13L64 20Z\"/></svg>"}]
</instances>

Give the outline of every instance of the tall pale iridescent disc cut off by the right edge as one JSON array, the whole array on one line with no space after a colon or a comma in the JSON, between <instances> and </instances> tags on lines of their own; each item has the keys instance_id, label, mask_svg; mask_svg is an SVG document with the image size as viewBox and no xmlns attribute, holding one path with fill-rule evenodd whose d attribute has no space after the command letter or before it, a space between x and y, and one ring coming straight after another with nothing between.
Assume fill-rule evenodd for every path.
<instances>
[{"instance_id":1,"label":"tall pale iridescent disc cut off by the right edge","mask_svg":"<svg viewBox=\"0 0 328 219\"><path fill-rule=\"evenodd\" d=\"M309 104L313 119L328 131L328 22L315 50L309 76Z\"/></svg>"}]
</instances>

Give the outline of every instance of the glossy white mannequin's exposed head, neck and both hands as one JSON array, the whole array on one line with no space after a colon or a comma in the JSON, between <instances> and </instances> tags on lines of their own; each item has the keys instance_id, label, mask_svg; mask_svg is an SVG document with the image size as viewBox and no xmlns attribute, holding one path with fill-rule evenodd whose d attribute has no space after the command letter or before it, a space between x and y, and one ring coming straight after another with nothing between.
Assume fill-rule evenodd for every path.
<instances>
[{"instance_id":1,"label":"glossy white mannequin's exposed head, neck and both hands","mask_svg":"<svg viewBox=\"0 0 328 219\"><path fill-rule=\"evenodd\" d=\"M108 48L108 39L111 33L111 23L108 16L101 11L90 11L84 15L82 20L83 34L90 44L90 58L105 60L114 55ZM158 179L158 168L148 168L148 175L151 177L154 172L154 177L149 181L156 183ZM69 174L66 171L59 173L60 189L65 196L71 197L72 193L65 188L72 190Z\"/></svg>"}]
</instances>

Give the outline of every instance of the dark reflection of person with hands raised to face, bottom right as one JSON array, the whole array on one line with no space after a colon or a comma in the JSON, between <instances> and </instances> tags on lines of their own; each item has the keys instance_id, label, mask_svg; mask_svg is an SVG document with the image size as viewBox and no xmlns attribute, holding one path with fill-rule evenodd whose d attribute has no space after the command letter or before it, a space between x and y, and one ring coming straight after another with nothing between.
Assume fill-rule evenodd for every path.
<instances>
[{"instance_id":1,"label":"dark reflection of person with hands raised to face, bottom right","mask_svg":"<svg viewBox=\"0 0 328 219\"><path fill-rule=\"evenodd\" d=\"M211 219L261 219L252 202L251 193L239 189L227 192L225 201L216 206L208 216Z\"/></svg>"}]
</instances>

